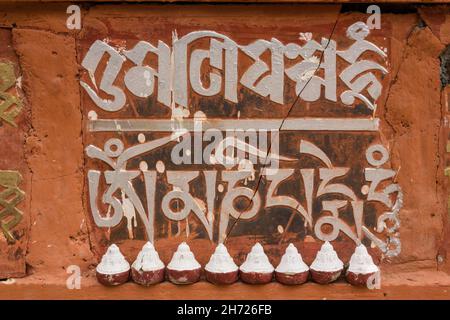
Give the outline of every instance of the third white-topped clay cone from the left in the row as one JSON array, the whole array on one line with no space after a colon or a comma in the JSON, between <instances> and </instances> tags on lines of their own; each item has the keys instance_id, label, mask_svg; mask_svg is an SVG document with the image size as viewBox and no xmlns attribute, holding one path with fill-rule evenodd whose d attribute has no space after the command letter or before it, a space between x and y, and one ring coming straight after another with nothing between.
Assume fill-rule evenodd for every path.
<instances>
[{"instance_id":1,"label":"third white-topped clay cone from the left in the row","mask_svg":"<svg viewBox=\"0 0 450 320\"><path fill-rule=\"evenodd\" d=\"M191 249L183 242L167 265L167 277L175 284L191 284L200 280L201 269Z\"/></svg>"}]
</instances>

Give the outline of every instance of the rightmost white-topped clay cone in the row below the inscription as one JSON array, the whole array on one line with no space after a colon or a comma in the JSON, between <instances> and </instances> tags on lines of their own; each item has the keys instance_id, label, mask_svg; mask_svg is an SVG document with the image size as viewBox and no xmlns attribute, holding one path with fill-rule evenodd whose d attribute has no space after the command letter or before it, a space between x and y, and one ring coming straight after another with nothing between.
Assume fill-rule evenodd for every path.
<instances>
[{"instance_id":1,"label":"rightmost white-topped clay cone in the row below the inscription","mask_svg":"<svg viewBox=\"0 0 450 320\"><path fill-rule=\"evenodd\" d=\"M367 286L369 280L379 271L366 247L360 244L350 258L346 279L354 286Z\"/></svg>"}]
</instances>

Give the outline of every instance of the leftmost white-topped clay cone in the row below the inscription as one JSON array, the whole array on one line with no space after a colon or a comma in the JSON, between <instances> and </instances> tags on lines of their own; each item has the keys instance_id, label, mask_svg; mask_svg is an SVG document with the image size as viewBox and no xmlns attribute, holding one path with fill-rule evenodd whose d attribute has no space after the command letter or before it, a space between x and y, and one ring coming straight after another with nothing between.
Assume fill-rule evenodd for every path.
<instances>
[{"instance_id":1,"label":"leftmost white-topped clay cone in the row below the inscription","mask_svg":"<svg viewBox=\"0 0 450 320\"><path fill-rule=\"evenodd\" d=\"M98 282L105 286L117 286L130 277L130 264L115 244L109 246L96 268Z\"/></svg>"}]
</instances>

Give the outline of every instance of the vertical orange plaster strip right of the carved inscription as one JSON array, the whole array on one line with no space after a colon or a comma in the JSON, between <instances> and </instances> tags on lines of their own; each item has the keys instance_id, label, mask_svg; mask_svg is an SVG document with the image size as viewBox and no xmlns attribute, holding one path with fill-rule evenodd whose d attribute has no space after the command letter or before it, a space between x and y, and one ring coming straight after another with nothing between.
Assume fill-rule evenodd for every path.
<instances>
[{"instance_id":1,"label":"vertical orange plaster strip right of the carved inscription","mask_svg":"<svg viewBox=\"0 0 450 320\"><path fill-rule=\"evenodd\" d=\"M429 28L414 28L386 102L392 151L401 168L398 180L408 203L401 212L402 261L435 259L442 232L440 81L435 76L442 49Z\"/></svg>"}]
</instances>

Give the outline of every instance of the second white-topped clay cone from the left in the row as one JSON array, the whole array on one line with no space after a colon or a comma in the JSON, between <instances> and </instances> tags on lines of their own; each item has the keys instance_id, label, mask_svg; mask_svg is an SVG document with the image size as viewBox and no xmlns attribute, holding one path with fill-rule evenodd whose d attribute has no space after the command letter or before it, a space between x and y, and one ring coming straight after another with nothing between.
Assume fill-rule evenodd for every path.
<instances>
[{"instance_id":1,"label":"second white-topped clay cone from the left in the row","mask_svg":"<svg viewBox=\"0 0 450 320\"><path fill-rule=\"evenodd\" d=\"M147 242L131 265L131 277L134 282L149 286L164 280L164 270L164 263L155 247L151 242Z\"/></svg>"}]
</instances>

